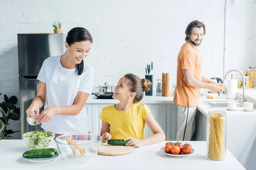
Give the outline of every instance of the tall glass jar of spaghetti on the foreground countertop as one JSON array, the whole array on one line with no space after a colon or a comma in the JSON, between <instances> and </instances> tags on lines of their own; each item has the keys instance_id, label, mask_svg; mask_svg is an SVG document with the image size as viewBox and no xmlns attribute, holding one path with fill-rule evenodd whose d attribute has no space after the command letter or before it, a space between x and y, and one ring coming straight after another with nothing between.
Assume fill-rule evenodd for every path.
<instances>
[{"instance_id":1,"label":"tall glass jar of spaghetti on the foreground countertop","mask_svg":"<svg viewBox=\"0 0 256 170\"><path fill-rule=\"evenodd\" d=\"M207 116L207 159L224 160L227 151L227 113L209 111Z\"/></svg>"}]
</instances>

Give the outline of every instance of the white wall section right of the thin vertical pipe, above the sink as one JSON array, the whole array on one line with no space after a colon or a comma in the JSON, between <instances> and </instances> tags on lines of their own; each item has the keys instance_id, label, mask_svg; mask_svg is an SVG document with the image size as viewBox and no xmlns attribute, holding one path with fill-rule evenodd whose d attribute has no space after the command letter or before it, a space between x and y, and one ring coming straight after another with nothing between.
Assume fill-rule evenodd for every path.
<instances>
[{"instance_id":1,"label":"white wall section right of the thin vertical pipe, above the sink","mask_svg":"<svg viewBox=\"0 0 256 170\"><path fill-rule=\"evenodd\" d=\"M227 1L225 73L256 66L255 17L256 0Z\"/></svg>"}]
</instances>

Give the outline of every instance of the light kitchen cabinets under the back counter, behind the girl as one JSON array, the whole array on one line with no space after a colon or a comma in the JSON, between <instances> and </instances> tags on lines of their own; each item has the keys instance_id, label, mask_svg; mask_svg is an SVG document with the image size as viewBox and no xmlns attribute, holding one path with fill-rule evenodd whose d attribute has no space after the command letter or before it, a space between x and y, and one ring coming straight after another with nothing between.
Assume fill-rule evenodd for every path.
<instances>
[{"instance_id":1,"label":"light kitchen cabinets under the back counter, behind the girl","mask_svg":"<svg viewBox=\"0 0 256 170\"><path fill-rule=\"evenodd\" d=\"M99 118L102 108L113 104L85 104L84 108L87 111L90 132L99 134L102 127L102 120ZM154 119L163 129L166 135L166 140L176 140L177 133L177 106L175 104L147 104L151 110ZM153 133L148 125L145 125L145 137L151 136Z\"/></svg>"}]
</instances>

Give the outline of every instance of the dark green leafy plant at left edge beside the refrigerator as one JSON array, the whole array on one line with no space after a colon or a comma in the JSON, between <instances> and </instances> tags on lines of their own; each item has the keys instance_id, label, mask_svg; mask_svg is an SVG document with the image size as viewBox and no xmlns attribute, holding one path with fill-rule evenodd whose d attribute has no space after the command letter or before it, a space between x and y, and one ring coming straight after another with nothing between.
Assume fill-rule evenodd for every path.
<instances>
[{"instance_id":1,"label":"dark green leafy plant at left edge beside the refrigerator","mask_svg":"<svg viewBox=\"0 0 256 170\"><path fill-rule=\"evenodd\" d=\"M0 94L1 95L1 94ZM0 102L0 113L2 113L2 117L0 117L0 140L1 139L10 139L12 138L11 134L19 131L13 131L8 129L7 127L10 125L8 121L19 120L20 119L20 108L16 108L15 104L17 103L17 97L11 96L8 98L4 94L4 101ZM0 114L1 115L1 114Z\"/></svg>"}]
</instances>

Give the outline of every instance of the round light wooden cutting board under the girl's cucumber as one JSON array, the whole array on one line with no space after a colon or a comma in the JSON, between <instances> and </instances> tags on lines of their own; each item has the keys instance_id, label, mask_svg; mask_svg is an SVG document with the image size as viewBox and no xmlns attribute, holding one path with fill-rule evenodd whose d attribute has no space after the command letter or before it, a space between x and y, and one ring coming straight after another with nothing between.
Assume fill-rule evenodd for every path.
<instances>
[{"instance_id":1,"label":"round light wooden cutting board under the girl's cucumber","mask_svg":"<svg viewBox=\"0 0 256 170\"><path fill-rule=\"evenodd\" d=\"M115 146L109 145L105 142L102 142L101 147L99 148L99 155L105 156L119 156L119 155L126 155L134 151L133 146Z\"/></svg>"}]
</instances>

